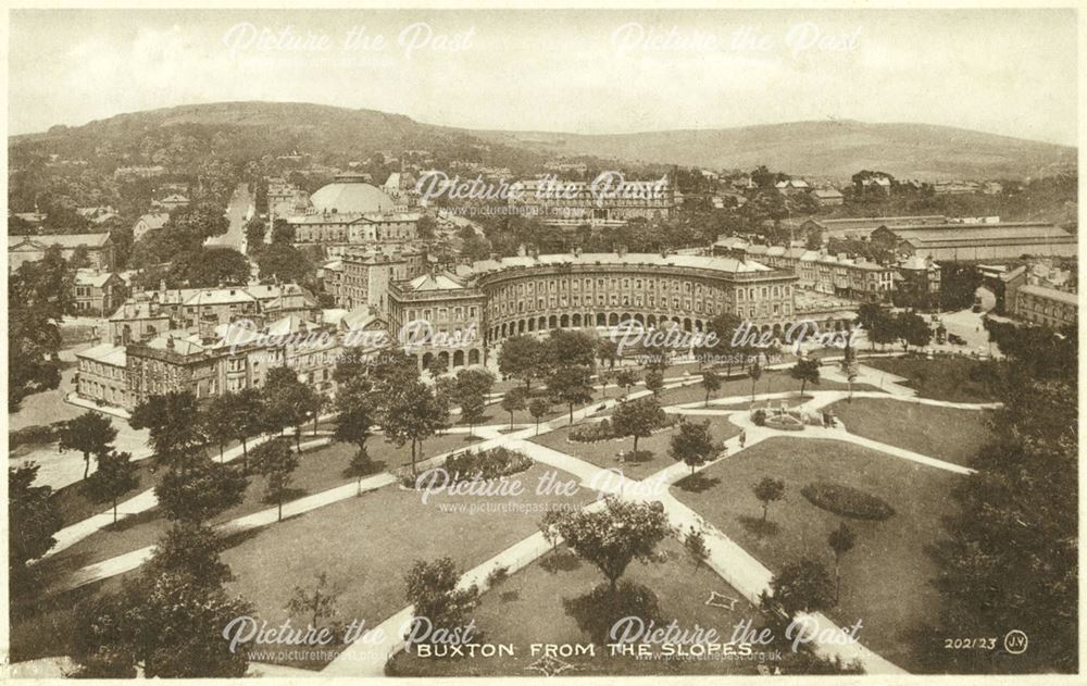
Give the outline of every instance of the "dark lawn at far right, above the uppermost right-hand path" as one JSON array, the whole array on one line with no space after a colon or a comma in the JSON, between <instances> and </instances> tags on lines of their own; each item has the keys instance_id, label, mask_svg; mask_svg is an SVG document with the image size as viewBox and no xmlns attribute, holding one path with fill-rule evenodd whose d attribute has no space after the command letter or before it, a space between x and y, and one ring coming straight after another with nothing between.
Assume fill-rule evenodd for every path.
<instances>
[{"instance_id":1,"label":"dark lawn at far right, above the uppermost right-hand path","mask_svg":"<svg viewBox=\"0 0 1087 686\"><path fill-rule=\"evenodd\" d=\"M922 357L865 358L861 363L904 377L908 381L902 385L915 389L922 398L951 402L1000 400L985 382L988 373L978 360L960 357L937 357L933 360ZM972 370L982 372L979 381L971 379Z\"/></svg>"}]
</instances>

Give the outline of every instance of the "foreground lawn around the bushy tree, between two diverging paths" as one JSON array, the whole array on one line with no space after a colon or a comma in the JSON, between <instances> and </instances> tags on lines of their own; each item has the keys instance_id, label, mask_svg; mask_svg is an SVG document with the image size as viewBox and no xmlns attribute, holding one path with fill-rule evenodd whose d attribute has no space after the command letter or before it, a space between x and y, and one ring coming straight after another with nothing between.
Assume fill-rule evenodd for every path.
<instances>
[{"instance_id":1,"label":"foreground lawn around the bushy tree, between two diverging paths","mask_svg":"<svg viewBox=\"0 0 1087 686\"><path fill-rule=\"evenodd\" d=\"M759 613L744 597L705 565L694 559L675 539L658 546L660 562L633 562L623 581L640 584L655 594L660 607L659 625L676 620L682 628L717 631L722 643L733 627ZM548 552L539 560L502 581L484 594L473 613L482 640L512 644L514 654L476 659L423 659L401 651L386 666L396 676L540 676L528 665L540 658L533 644L590 644L590 634L567 612L566 603L603 583L592 564L565 548ZM711 591L739 600L734 610L705 604ZM530 619L529 619L530 618ZM757 674L755 662L740 660L638 660L611 656L605 646L594 646L595 654L561 658L575 665L562 676L652 675L652 674Z\"/></svg>"}]
</instances>

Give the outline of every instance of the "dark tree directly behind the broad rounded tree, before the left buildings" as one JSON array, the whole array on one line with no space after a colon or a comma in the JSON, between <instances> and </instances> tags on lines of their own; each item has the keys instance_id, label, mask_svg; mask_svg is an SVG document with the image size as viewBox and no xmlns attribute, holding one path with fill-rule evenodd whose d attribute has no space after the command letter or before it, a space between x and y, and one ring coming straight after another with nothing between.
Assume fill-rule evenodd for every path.
<instances>
[{"instance_id":1,"label":"dark tree directly behind the broad rounded tree, before the left buildings","mask_svg":"<svg viewBox=\"0 0 1087 686\"><path fill-rule=\"evenodd\" d=\"M185 470L203 458L199 449L208 441L201 423L193 421L199 415L196 396L171 391L136 406L128 424L148 429L148 444L160 464Z\"/></svg>"}]
</instances>

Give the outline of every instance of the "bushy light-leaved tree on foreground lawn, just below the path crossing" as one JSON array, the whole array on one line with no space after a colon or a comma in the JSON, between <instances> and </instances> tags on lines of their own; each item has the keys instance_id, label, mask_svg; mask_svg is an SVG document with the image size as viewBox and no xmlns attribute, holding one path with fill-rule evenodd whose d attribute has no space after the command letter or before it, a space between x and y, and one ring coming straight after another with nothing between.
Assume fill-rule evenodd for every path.
<instances>
[{"instance_id":1,"label":"bushy light-leaved tree on foreground lawn, just below the path crossing","mask_svg":"<svg viewBox=\"0 0 1087 686\"><path fill-rule=\"evenodd\" d=\"M609 496L604 509L564 512L555 525L570 549L603 572L612 594L633 560L653 559L657 545L672 534L660 502L633 502Z\"/></svg>"}]
</instances>

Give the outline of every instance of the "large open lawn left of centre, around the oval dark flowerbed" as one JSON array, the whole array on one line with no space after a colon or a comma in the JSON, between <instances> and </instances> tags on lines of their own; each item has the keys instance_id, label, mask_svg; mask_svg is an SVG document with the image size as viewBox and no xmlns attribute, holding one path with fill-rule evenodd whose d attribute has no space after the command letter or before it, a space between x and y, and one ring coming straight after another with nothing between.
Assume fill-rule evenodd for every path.
<instances>
[{"instance_id":1,"label":"large open lawn left of centre, around the oval dark flowerbed","mask_svg":"<svg viewBox=\"0 0 1087 686\"><path fill-rule=\"evenodd\" d=\"M236 576L230 589L254 604L259 619L278 625L288 616L285 607L295 587L312 586L314 575L324 573L340 591L336 619L376 626L408 604L403 577L416 560L449 556L461 571L470 570L536 533L545 508L580 509L594 498L585 488L573 496L536 495L539 479L548 473L557 473L563 482L575 481L571 474L535 464L508 477L523 484L526 492L520 496L439 494L426 503L421 494L392 485L259 529L223 553ZM525 511L442 510L486 503L496 508L513 503ZM296 626L307 621L291 618ZM341 645L327 648L342 650ZM326 663L284 662L303 669Z\"/></svg>"}]
</instances>

